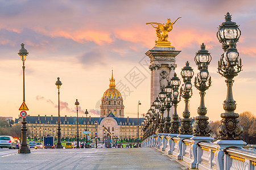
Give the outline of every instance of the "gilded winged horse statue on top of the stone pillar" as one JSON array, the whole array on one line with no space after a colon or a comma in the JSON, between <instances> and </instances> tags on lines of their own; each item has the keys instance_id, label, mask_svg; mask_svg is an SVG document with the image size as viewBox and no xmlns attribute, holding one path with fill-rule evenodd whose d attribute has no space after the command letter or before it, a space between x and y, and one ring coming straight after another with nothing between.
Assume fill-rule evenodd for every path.
<instances>
[{"instance_id":1,"label":"gilded winged horse statue on top of the stone pillar","mask_svg":"<svg viewBox=\"0 0 256 170\"><path fill-rule=\"evenodd\" d=\"M167 40L168 32L172 31L172 25L174 25L179 18L177 18L175 22L171 22L171 19L167 19L166 24L146 23L146 24L151 24L152 27L155 28L156 37L158 37L158 40L155 40L155 43L156 43L155 46L171 46L171 42Z\"/></svg>"}]
</instances>

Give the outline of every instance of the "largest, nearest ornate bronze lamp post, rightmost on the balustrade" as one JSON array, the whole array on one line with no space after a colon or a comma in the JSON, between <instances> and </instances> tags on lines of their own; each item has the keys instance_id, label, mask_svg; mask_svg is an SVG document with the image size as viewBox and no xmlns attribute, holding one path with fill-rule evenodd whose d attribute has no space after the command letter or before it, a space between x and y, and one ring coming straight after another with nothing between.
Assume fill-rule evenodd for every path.
<instances>
[{"instance_id":1,"label":"largest, nearest ornate bronze lamp post, rightmost on the balustrade","mask_svg":"<svg viewBox=\"0 0 256 170\"><path fill-rule=\"evenodd\" d=\"M223 108L225 113L221 113L221 125L218 126L217 131L220 134L220 139L233 140L242 139L243 128L238 124L237 118L239 114L234 113L236 110L236 101L233 99L233 78L242 71L242 60L239 58L239 53L236 49L236 42L238 41L241 31L236 23L231 22L231 16L229 12L225 16L226 22L222 23L218 29L217 37L222 43L222 47L225 46L225 53L222 54L220 61L218 61L218 73L226 78L227 96L224 101ZM226 23L230 23L226 27ZM223 31L222 31L223 30ZM226 37L225 30L230 34ZM227 32L226 31L226 32ZM220 33L219 33L220 32ZM220 36L221 32L224 32L224 36ZM229 48L226 48L229 42Z\"/></svg>"}]
</instances>

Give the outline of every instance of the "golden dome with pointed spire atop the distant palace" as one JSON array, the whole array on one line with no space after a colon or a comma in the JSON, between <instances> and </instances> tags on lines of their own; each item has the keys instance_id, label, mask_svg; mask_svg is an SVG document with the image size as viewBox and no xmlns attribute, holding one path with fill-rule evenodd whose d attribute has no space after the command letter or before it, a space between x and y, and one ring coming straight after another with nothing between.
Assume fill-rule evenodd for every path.
<instances>
[{"instance_id":1,"label":"golden dome with pointed spire atop the distant palace","mask_svg":"<svg viewBox=\"0 0 256 170\"><path fill-rule=\"evenodd\" d=\"M113 78L113 70L112 70L112 78L109 80L110 80L109 89L104 92L103 99L122 99L121 93L115 88L115 79Z\"/></svg>"}]
</instances>

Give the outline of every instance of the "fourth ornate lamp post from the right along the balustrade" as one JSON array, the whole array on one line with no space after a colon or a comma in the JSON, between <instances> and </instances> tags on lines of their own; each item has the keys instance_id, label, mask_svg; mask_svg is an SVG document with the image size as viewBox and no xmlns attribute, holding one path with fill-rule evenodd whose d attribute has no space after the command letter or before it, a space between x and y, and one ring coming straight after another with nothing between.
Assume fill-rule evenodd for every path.
<instances>
[{"instance_id":1,"label":"fourth ornate lamp post from the right along the balustrade","mask_svg":"<svg viewBox=\"0 0 256 170\"><path fill-rule=\"evenodd\" d=\"M171 79L172 86L172 103L174 104L174 114L172 115L172 122L170 127L171 134L179 134L179 116L177 114L177 104L180 102L179 98L179 86L180 79L177 77L177 74L174 73L174 77Z\"/></svg>"}]
</instances>

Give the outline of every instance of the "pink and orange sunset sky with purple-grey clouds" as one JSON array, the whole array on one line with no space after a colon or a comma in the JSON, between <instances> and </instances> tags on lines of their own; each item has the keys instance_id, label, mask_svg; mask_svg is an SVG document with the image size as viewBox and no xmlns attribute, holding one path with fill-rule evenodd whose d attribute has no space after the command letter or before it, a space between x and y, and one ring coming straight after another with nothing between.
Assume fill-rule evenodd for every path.
<instances>
[{"instance_id":1,"label":"pink and orange sunset sky with purple-grey clouds","mask_svg":"<svg viewBox=\"0 0 256 170\"><path fill-rule=\"evenodd\" d=\"M237 113L256 114L256 2L255 1L0 1L0 116L18 117L22 104L22 61L18 56L23 42L26 60L26 104L31 116L57 116L57 88L60 77L61 116L80 116L85 109L98 116L100 99L109 87L113 67L115 83L122 92L125 115L137 116L150 107L149 58L144 53L154 47L155 30L147 22L166 23L179 19L169 33L169 41L181 53L176 57L176 73L186 61L198 73L193 58L204 42L212 55L209 66L212 87L205 97L210 120L220 120L226 97L224 78L217 74L223 53L216 37L217 27L230 12L242 32L237 43L243 71L234 79ZM139 73L139 83L130 73ZM197 115L199 91L193 89L191 116ZM182 116L184 101L178 105Z\"/></svg>"}]
</instances>

